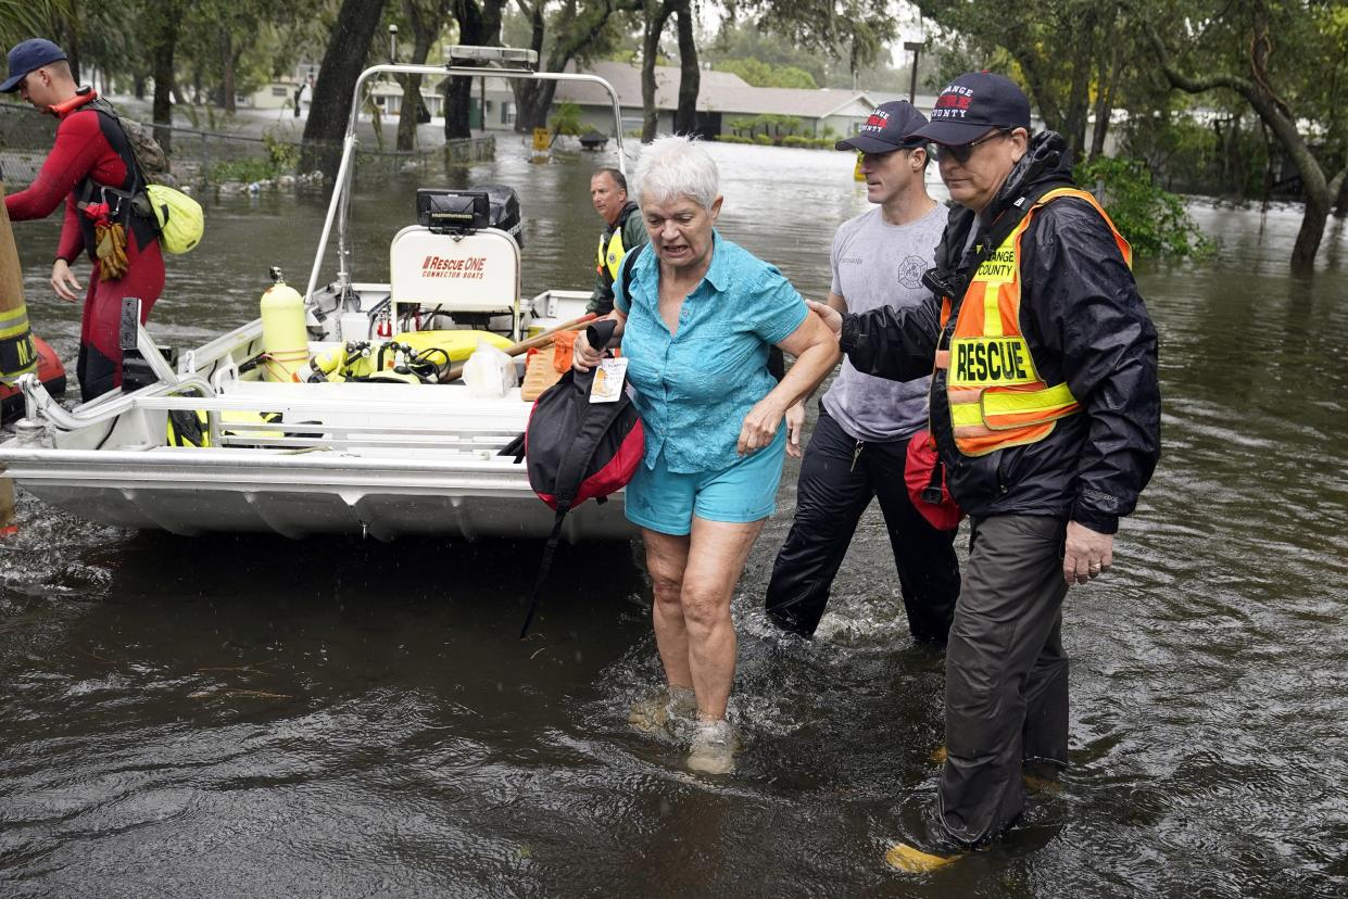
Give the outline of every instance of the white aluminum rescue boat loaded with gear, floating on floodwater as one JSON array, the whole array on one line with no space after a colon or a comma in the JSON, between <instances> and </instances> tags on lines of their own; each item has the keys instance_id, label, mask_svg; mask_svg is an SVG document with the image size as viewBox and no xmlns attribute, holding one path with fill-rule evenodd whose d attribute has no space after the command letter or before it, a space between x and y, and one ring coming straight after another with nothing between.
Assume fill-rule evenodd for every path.
<instances>
[{"instance_id":1,"label":"white aluminum rescue boat loaded with gear, floating on floodwater","mask_svg":"<svg viewBox=\"0 0 1348 899\"><path fill-rule=\"evenodd\" d=\"M299 346L267 346L278 328L264 311L173 365L128 309L120 392L66 408L36 376L20 379L24 416L0 445L4 476L77 518L182 535L547 536L553 511L511 449L531 403L519 387L483 395L441 380L479 344L518 344L581 317L589 291L520 298L518 201L501 187L418 191L418 222L392 239L388 271L371 272L387 280L346 271L357 111L372 78L594 82L612 98L623 167L613 88L594 75L535 73L534 62L528 50L461 47L445 66L361 73L313 270L303 294L290 291L302 303ZM324 280L334 230L338 271ZM523 361L512 361L516 375ZM572 512L563 538L634 535L621 493L611 500Z\"/></svg>"}]
</instances>

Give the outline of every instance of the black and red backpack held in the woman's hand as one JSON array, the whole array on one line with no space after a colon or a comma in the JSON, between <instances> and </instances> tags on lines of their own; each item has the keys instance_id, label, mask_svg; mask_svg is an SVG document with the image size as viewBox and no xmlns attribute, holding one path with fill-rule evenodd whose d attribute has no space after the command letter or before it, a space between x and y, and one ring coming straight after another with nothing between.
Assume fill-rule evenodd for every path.
<instances>
[{"instance_id":1,"label":"black and red backpack held in the woman's hand","mask_svg":"<svg viewBox=\"0 0 1348 899\"><path fill-rule=\"evenodd\" d=\"M590 346L605 346L616 322L601 319L585 329ZM524 431L524 464L528 485L557 511L553 532L543 549L543 563L534 582L528 616L519 636L524 639L538 611L541 590L553 566L553 554L562 532L562 520L573 508L593 499L604 503L621 489L642 464L646 433L632 404L632 387L613 403L590 403L594 372L572 369L534 400Z\"/></svg>"}]
</instances>

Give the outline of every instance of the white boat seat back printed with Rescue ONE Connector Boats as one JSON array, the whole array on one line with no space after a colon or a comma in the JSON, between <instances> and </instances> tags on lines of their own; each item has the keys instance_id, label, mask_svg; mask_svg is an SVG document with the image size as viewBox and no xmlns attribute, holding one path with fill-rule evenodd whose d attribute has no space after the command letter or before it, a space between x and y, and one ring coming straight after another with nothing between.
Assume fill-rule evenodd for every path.
<instances>
[{"instance_id":1,"label":"white boat seat back printed with Rescue ONE Connector Boats","mask_svg":"<svg viewBox=\"0 0 1348 899\"><path fill-rule=\"evenodd\" d=\"M519 245L503 230L442 235L411 225L394 236L388 256L395 315L403 305L450 315L514 314L519 306Z\"/></svg>"}]
</instances>

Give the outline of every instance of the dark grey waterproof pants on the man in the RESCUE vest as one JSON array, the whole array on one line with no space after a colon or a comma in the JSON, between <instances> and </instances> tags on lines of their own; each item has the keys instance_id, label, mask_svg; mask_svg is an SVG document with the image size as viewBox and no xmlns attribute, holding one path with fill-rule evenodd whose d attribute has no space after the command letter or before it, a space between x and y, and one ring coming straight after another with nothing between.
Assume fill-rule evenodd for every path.
<instances>
[{"instance_id":1,"label":"dark grey waterproof pants on the man in the RESCUE vest","mask_svg":"<svg viewBox=\"0 0 1348 899\"><path fill-rule=\"evenodd\" d=\"M1068 763L1062 651L1065 524L1033 515L973 522L945 652L944 837L977 845L1024 807L1024 762Z\"/></svg>"}]
</instances>

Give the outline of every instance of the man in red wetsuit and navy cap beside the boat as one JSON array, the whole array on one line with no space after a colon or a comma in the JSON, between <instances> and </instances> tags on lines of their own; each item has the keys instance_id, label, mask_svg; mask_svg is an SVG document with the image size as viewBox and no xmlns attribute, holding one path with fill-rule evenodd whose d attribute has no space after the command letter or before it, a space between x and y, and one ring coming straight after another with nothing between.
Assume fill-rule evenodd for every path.
<instances>
[{"instance_id":1,"label":"man in red wetsuit and navy cap beside the boat","mask_svg":"<svg viewBox=\"0 0 1348 899\"><path fill-rule=\"evenodd\" d=\"M51 266L51 288L57 297L77 302L80 282L70 263L80 251L89 253L93 272L85 294L84 322L80 328L80 392L88 402L121 384L121 345L117 328L121 298L140 298L142 322L159 299L164 286L164 260L154 222L133 214L129 194L143 189L135 155L125 132L111 108L93 101L92 88L80 88L61 47L34 38L9 51L9 77L0 92L19 92L39 112L61 120L57 142L42 171L27 190L5 197L5 209L15 221L43 218L65 199L66 218L61 245ZM106 204L106 205L105 205ZM127 271L104 280L102 263L96 255L94 225L121 224L127 235Z\"/></svg>"}]
</instances>

